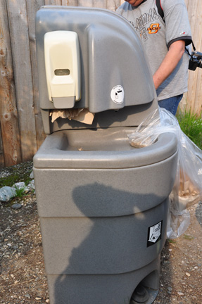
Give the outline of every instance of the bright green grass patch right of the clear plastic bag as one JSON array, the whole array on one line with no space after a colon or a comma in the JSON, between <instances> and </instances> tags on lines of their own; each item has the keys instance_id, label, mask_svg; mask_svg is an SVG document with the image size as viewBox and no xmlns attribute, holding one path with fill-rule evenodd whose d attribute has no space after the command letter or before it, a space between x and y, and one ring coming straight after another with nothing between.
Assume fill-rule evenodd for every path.
<instances>
[{"instance_id":1,"label":"bright green grass patch right of the clear plastic bag","mask_svg":"<svg viewBox=\"0 0 202 304\"><path fill-rule=\"evenodd\" d=\"M178 113L176 115L182 132L191 139L191 141L202 149L202 113L199 115L192 114L191 111Z\"/></svg>"}]
</instances>

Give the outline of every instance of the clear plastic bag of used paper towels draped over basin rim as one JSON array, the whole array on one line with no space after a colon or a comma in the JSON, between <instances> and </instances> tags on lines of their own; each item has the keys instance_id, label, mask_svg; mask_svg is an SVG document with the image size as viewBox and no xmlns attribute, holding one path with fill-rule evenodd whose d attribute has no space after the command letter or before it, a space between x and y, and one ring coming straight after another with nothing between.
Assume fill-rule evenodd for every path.
<instances>
[{"instance_id":1,"label":"clear plastic bag of used paper towels draped over basin rim","mask_svg":"<svg viewBox=\"0 0 202 304\"><path fill-rule=\"evenodd\" d=\"M170 194L167 236L175 239L190 223L189 208L202 201L202 151L180 129L177 118L158 108L128 135L130 144L142 148L153 144L159 134L173 132L178 139L178 162L175 184Z\"/></svg>"}]
</instances>

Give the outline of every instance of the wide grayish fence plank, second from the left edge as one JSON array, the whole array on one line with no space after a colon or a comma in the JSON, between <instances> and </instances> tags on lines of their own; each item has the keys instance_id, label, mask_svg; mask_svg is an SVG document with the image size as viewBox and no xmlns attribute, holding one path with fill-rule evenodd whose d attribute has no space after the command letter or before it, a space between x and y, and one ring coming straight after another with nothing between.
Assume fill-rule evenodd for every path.
<instances>
[{"instance_id":1,"label":"wide grayish fence plank, second from the left edge","mask_svg":"<svg viewBox=\"0 0 202 304\"><path fill-rule=\"evenodd\" d=\"M11 34L21 152L24 162L30 160L37 151L26 1L7 0L6 4Z\"/></svg>"}]
</instances>

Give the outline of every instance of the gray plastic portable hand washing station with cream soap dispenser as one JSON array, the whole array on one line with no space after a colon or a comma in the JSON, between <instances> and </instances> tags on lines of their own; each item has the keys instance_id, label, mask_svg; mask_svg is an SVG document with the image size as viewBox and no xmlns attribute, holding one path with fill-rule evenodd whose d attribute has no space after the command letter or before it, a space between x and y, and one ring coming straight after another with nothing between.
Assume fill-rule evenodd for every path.
<instances>
[{"instance_id":1,"label":"gray plastic portable hand washing station with cream soap dispenser","mask_svg":"<svg viewBox=\"0 0 202 304\"><path fill-rule=\"evenodd\" d=\"M158 107L141 42L120 15L70 6L42 7L36 39L49 135L34 179L50 303L153 303L177 139L130 145Z\"/></svg>"}]
</instances>

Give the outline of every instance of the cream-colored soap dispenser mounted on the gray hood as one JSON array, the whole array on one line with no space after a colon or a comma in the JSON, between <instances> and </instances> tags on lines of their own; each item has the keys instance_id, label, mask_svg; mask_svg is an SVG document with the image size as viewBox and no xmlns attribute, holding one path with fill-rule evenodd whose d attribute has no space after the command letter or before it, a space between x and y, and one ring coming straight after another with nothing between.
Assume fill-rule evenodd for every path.
<instances>
[{"instance_id":1,"label":"cream-colored soap dispenser mounted on the gray hood","mask_svg":"<svg viewBox=\"0 0 202 304\"><path fill-rule=\"evenodd\" d=\"M81 98L80 46L76 32L44 35L46 82L55 108L72 108Z\"/></svg>"}]
</instances>

